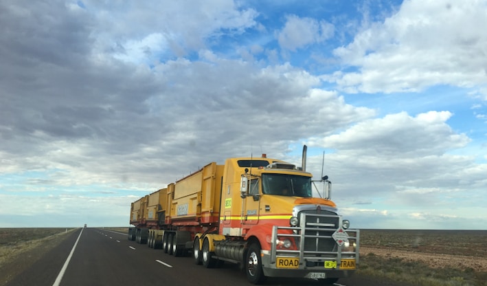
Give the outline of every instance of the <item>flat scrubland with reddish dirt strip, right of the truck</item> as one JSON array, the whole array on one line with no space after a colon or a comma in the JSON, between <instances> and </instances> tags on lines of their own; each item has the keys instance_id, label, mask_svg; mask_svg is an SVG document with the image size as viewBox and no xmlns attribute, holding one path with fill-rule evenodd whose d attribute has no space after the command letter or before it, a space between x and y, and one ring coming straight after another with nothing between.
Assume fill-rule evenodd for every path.
<instances>
[{"instance_id":1,"label":"flat scrubland with reddish dirt strip, right of the truck","mask_svg":"<svg viewBox=\"0 0 487 286\"><path fill-rule=\"evenodd\" d=\"M487 231L477 230L361 230L367 253L357 273L418 286L487 286L485 241ZM438 259L418 259L431 254Z\"/></svg>"}]
</instances>

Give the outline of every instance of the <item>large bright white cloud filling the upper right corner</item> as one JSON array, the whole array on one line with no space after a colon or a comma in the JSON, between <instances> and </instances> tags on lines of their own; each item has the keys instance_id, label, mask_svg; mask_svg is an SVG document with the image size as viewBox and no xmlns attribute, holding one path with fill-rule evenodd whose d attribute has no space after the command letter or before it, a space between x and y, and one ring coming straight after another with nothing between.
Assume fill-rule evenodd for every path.
<instances>
[{"instance_id":1,"label":"large bright white cloud filling the upper right corner","mask_svg":"<svg viewBox=\"0 0 487 286\"><path fill-rule=\"evenodd\" d=\"M352 43L335 49L352 72L330 80L348 92L422 91L433 85L487 85L484 1L405 1L385 21L365 23ZM485 95L485 93L482 92Z\"/></svg>"}]
</instances>

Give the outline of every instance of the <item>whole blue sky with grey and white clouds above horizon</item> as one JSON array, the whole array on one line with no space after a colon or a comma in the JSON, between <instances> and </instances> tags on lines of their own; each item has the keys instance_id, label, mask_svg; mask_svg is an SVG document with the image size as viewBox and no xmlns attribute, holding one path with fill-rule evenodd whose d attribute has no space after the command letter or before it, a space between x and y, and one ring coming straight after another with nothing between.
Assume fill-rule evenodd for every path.
<instances>
[{"instance_id":1,"label":"whole blue sky with grey and white clouds above horizon","mask_svg":"<svg viewBox=\"0 0 487 286\"><path fill-rule=\"evenodd\" d=\"M0 1L0 228L128 226L209 162L351 228L487 229L487 1ZM324 158L324 159L323 159Z\"/></svg>"}]
</instances>

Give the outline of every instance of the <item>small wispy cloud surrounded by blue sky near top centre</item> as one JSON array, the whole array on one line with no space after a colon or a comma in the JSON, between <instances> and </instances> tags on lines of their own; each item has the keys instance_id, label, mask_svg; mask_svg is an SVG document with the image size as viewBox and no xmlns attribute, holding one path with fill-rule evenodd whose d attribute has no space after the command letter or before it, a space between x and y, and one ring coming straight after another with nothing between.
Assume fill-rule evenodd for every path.
<instances>
[{"instance_id":1,"label":"small wispy cloud surrounded by blue sky near top centre","mask_svg":"<svg viewBox=\"0 0 487 286\"><path fill-rule=\"evenodd\" d=\"M286 24L278 33L278 41L282 48L295 51L306 45L330 39L334 30L334 26L326 21L291 15L286 17Z\"/></svg>"}]
</instances>

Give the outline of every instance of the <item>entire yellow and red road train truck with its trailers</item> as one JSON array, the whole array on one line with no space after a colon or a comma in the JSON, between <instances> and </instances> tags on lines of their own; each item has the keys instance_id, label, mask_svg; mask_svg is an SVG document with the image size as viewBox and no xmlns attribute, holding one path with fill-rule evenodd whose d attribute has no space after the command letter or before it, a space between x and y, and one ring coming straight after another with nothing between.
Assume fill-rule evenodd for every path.
<instances>
[{"instance_id":1,"label":"entire yellow and red road train truck with its trailers","mask_svg":"<svg viewBox=\"0 0 487 286\"><path fill-rule=\"evenodd\" d=\"M238 263L253 284L267 277L336 283L359 263L359 230L339 215L328 177L312 178L306 146L301 167L266 155L212 162L133 202L128 239L191 254L207 268Z\"/></svg>"}]
</instances>

